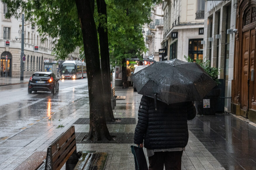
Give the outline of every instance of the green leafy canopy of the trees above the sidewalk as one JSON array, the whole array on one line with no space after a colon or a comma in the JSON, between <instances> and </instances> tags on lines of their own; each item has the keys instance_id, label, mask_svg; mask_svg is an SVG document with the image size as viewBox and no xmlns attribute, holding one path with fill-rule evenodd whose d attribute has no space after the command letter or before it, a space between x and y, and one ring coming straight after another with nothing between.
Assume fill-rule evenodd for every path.
<instances>
[{"instance_id":1,"label":"green leafy canopy of the trees above the sidewalk","mask_svg":"<svg viewBox=\"0 0 256 170\"><path fill-rule=\"evenodd\" d=\"M1 0L8 6L6 17L21 18L37 26L41 41L45 35L53 39L53 54L67 58L77 46L83 51L82 32L74 0ZM108 43L110 62L120 65L122 58L140 56L146 50L142 26L150 22L150 0L106 0L108 14ZM97 6L95 6L97 8ZM104 15L101 15L104 18ZM101 22L94 10L96 25Z\"/></svg>"}]
</instances>

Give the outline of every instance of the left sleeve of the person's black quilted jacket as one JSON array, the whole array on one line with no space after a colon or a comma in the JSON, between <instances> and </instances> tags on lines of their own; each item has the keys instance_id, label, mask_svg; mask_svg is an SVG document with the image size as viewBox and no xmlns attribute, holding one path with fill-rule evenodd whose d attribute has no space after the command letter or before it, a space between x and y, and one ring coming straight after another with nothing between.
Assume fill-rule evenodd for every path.
<instances>
[{"instance_id":1,"label":"left sleeve of the person's black quilted jacket","mask_svg":"<svg viewBox=\"0 0 256 170\"><path fill-rule=\"evenodd\" d=\"M134 133L134 143L142 144L143 138L148 127L148 108L149 99L146 96L142 96L139 106L138 123Z\"/></svg>"}]
</instances>

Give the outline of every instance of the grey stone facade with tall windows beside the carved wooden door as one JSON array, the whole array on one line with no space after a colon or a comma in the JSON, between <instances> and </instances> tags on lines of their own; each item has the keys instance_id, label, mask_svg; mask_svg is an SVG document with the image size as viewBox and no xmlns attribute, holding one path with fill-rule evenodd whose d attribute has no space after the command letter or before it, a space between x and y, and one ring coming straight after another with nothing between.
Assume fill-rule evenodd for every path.
<instances>
[{"instance_id":1,"label":"grey stone facade with tall windows beside the carved wooden door","mask_svg":"<svg viewBox=\"0 0 256 170\"><path fill-rule=\"evenodd\" d=\"M234 39L236 0L206 1L203 57L212 67L220 69L218 79L222 89L219 111L231 111L231 81L234 68Z\"/></svg>"}]
</instances>

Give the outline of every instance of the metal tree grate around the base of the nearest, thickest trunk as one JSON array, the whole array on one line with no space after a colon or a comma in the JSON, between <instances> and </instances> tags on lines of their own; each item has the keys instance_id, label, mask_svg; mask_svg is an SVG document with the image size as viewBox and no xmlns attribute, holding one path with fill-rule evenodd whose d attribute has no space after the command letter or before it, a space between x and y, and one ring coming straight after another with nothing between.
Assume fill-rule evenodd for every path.
<instances>
[{"instance_id":1,"label":"metal tree grate around the base of the nearest, thickest trunk","mask_svg":"<svg viewBox=\"0 0 256 170\"><path fill-rule=\"evenodd\" d=\"M110 133L114 140L87 141L84 140L89 133L76 133L77 144L132 144L134 143L134 133Z\"/></svg>"}]
</instances>

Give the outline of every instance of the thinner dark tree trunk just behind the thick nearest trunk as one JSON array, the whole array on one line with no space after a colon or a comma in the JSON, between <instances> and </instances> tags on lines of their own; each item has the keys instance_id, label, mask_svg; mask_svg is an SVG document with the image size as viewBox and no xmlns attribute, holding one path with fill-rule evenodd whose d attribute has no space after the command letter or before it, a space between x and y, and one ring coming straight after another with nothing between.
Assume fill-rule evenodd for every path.
<instances>
[{"instance_id":1,"label":"thinner dark tree trunk just behind the thick nearest trunk","mask_svg":"<svg viewBox=\"0 0 256 170\"><path fill-rule=\"evenodd\" d=\"M110 62L108 49L108 29L107 29L107 5L104 0L97 0L98 15L105 17L104 23L99 21L98 33L101 50L101 73L104 99L104 112L106 121L115 121L111 106L111 85L110 85Z\"/></svg>"}]
</instances>

